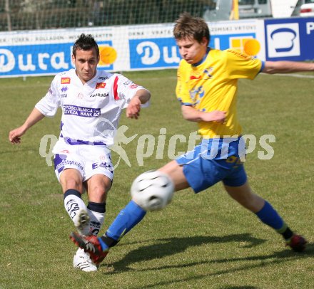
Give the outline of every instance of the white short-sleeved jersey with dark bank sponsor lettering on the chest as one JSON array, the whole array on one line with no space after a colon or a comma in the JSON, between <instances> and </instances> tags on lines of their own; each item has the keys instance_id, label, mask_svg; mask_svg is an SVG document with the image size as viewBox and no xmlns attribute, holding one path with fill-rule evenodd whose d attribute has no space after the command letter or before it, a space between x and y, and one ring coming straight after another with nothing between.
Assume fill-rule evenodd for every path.
<instances>
[{"instance_id":1,"label":"white short-sleeved jersey with dark bank sponsor lettering on the chest","mask_svg":"<svg viewBox=\"0 0 314 289\"><path fill-rule=\"evenodd\" d=\"M123 108L140 89L145 88L104 70L97 70L95 77L83 85L71 69L55 76L35 107L47 117L56 115L61 107L60 137L68 144L110 146Z\"/></svg>"}]
</instances>

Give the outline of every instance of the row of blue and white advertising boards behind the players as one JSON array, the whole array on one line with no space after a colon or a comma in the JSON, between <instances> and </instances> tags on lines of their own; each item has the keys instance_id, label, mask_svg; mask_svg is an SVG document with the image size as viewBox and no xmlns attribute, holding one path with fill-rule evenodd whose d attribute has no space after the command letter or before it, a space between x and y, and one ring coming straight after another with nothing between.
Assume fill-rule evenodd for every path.
<instances>
[{"instance_id":1,"label":"row of blue and white advertising boards behind the players","mask_svg":"<svg viewBox=\"0 0 314 289\"><path fill-rule=\"evenodd\" d=\"M314 60L314 17L218 21L208 25L212 48L243 51L245 41L256 38L260 43L256 57L262 61ZM181 56L172 31L173 23L0 32L0 78L55 75L73 68L71 47L80 33L93 34L100 51L106 51L101 53L99 69L177 68ZM104 49L106 46L112 49Z\"/></svg>"}]
</instances>

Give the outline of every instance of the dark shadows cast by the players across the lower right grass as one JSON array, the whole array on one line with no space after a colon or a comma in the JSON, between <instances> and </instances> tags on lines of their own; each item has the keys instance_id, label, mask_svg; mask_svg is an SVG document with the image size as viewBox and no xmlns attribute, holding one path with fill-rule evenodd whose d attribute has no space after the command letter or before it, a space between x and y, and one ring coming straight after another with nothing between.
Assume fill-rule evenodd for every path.
<instances>
[{"instance_id":1,"label":"dark shadows cast by the players across the lower right grass","mask_svg":"<svg viewBox=\"0 0 314 289\"><path fill-rule=\"evenodd\" d=\"M146 240L143 242L148 242L151 240ZM236 273L242 270L250 270L253 268L263 268L268 264L274 265L276 263L284 263L300 258L308 258L309 256L314 256L314 244L308 244L306 251L303 253L295 253L291 251L290 248L286 248L280 252L274 252L268 255L260 255L260 256L248 256L248 257L239 257L239 258L221 258L221 259L213 259L204 261L197 261L191 263L178 263L173 265L166 265L166 266L155 266L155 267L146 267L146 268L129 268L128 266L132 263L137 263L141 261L149 261L156 258L163 258L166 256L172 256L176 253L182 253L186 251L189 247L201 246L206 243L229 243L229 242L236 242L236 243L244 243L241 248L253 248L255 246L259 246L261 243L264 243L264 239L255 238L251 236L249 233L242 233L242 234L233 234L228 236L193 236L193 237L183 237L183 238L158 238L155 240L156 244L149 245L149 246L141 246L136 250L133 250L126 254L126 256L117 261L116 263L112 263L111 266L113 270L108 270L107 273L116 274L116 273L123 273L129 270L136 270L136 272L146 272L149 270L156 271L156 270L169 270L172 268L189 268L193 266L200 266L203 264L217 264L217 263L230 263L230 262L245 262L248 261L248 265L240 265L237 268L229 268L226 270L214 270L213 272L208 272L206 274L199 274L196 276L189 276L188 278L184 278L184 276L178 276L176 280L171 281L161 281L159 283L153 283L151 285L145 285L143 288L153 288L155 286L166 286L173 283L181 283L181 282L191 282L193 280L198 280L201 278L208 278L209 276L217 276L223 275L228 273ZM143 243L142 242L142 243ZM141 243L141 242L133 242L133 243ZM132 244L132 243L128 243ZM204 258L205 259L205 258ZM258 263L252 264L251 261L258 261ZM107 266L107 265L102 265ZM141 288L141 287L136 287ZM242 288L242 287L224 287L224 288ZM258 287L246 287L243 288L258 288ZM131 288L130 288L131 289Z\"/></svg>"}]
</instances>

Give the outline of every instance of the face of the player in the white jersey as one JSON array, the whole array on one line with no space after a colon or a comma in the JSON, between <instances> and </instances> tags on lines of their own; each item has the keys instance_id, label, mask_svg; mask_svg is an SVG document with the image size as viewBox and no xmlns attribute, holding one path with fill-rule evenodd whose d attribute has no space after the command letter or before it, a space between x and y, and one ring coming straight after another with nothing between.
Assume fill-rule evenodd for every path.
<instances>
[{"instance_id":1,"label":"face of the player in the white jersey","mask_svg":"<svg viewBox=\"0 0 314 289\"><path fill-rule=\"evenodd\" d=\"M95 48L91 50L77 50L76 57L72 56L76 68L76 75L85 84L96 75L99 57L96 55Z\"/></svg>"}]
</instances>

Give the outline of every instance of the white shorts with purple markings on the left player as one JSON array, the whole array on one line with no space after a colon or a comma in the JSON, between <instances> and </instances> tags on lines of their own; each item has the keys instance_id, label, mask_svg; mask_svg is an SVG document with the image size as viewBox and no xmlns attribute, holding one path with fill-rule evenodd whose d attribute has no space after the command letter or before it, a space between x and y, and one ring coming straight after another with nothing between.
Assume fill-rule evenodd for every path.
<instances>
[{"instance_id":1,"label":"white shorts with purple markings on the left player","mask_svg":"<svg viewBox=\"0 0 314 289\"><path fill-rule=\"evenodd\" d=\"M113 165L110 150L105 146L78 144L71 145L58 140L54 149L54 170L60 181L64 169L77 169L83 182L94 174L103 174L113 179Z\"/></svg>"}]
</instances>

